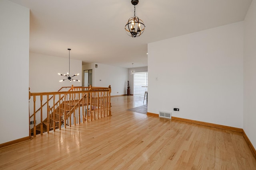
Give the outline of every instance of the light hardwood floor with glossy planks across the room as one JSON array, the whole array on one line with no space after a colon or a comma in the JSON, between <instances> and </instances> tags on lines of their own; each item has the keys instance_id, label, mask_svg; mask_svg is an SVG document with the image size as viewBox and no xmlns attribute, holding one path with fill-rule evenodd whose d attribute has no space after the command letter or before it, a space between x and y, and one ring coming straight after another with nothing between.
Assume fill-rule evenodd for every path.
<instances>
[{"instance_id":1,"label":"light hardwood floor with glossy planks across the room","mask_svg":"<svg viewBox=\"0 0 256 170\"><path fill-rule=\"evenodd\" d=\"M0 149L0 169L256 170L242 133L127 111L143 96L111 103L111 117Z\"/></svg>"}]
</instances>

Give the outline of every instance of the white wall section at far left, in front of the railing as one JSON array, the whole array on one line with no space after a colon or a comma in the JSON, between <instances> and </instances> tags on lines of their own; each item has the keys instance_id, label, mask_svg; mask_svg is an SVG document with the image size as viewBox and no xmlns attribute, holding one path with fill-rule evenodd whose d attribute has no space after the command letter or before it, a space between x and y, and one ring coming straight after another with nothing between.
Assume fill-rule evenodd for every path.
<instances>
[{"instance_id":1,"label":"white wall section at far left, in front of the railing","mask_svg":"<svg viewBox=\"0 0 256 170\"><path fill-rule=\"evenodd\" d=\"M29 9L8 0L0 0L0 21L2 144L29 136Z\"/></svg>"}]
</instances>

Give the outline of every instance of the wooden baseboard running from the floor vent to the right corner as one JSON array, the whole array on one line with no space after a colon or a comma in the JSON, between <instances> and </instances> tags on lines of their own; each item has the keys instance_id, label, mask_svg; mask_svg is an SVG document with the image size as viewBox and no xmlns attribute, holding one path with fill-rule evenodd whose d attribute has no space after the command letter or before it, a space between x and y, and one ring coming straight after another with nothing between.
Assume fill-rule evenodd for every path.
<instances>
[{"instance_id":1,"label":"wooden baseboard running from the floor vent to the right corner","mask_svg":"<svg viewBox=\"0 0 256 170\"><path fill-rule=\"evenodd\" d=\"M230 130L230 131L236 131L236 132L240 132L242 133L243 129L241 128L237 128L237 127L230 127L230 126L225 126L225 125L218 125L218 124L214 124L214 123L207 123L207 122L203 122L203 121L196 121L196 120L190 120L190 119L184 119L184 118L180 118L180 117L172 117L172 119L174 120L179 120L179 121L186 121L189 123L195 123L198 125L205 125L205 126L210 126L210 127L216 127L219 129L225 129L225 130Z\"/></svg>"}]
</instances>

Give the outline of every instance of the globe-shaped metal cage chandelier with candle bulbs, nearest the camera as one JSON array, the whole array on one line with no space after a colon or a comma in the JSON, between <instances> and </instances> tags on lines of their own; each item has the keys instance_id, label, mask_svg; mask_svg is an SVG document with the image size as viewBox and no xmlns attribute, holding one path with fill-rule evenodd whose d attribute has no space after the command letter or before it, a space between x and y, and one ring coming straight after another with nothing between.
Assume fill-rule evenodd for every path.
<instances>
[{"instance_id":1,"label":"globe-shaped metal cage chandelier with candle bulbs, nearest the camera","mask_svg":"<svg viewBox=\"0 0 256 170\"><path fill-rule=\"evenodd\" d=\"M124 29L129 36L135 38L144 32L145 25L142 20L135 16L135 6L139 3L139 0L132 0L131 3L134 5L134 16L128 20Z\"/></svg>"}]
</instances>

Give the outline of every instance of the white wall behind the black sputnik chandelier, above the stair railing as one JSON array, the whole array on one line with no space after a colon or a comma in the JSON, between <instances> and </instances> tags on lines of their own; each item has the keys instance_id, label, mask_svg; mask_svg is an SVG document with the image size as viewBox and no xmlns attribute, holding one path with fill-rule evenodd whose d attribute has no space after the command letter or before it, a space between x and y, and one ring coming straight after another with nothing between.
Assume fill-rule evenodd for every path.
<instances>
[{"instance_id":1,"label":"white wall behind the black sputnik chandelier, above the stair railing","mask_svg":"<svg viewBox=\"0 0 256 170\"><path fill-rule=\"evenodd\" d=\"M68 55L68 50L67 50ZM70 59L70 74L75 76L78 81L59 80L65 79L64 76L68 72L68 58L54 57L36 53L30 53L29 57L29 86L30 92L56 92L64 86L82 86L82 61Z\"/></svg>"}]
</instances>

